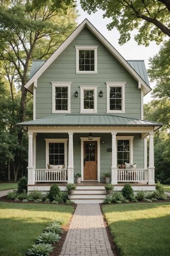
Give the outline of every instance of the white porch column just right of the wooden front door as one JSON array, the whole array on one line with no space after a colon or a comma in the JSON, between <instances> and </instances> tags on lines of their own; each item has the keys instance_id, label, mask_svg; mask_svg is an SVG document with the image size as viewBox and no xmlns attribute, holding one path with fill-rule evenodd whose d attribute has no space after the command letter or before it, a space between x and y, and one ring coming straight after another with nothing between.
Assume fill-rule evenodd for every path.
<instances>
[{"instance_id":1,"label":"white porch column just right of the wooden front door","mask_svg":"<svg viewBox=\"0 0 170 256\"><path fill-rule=\"evenodd\" d=\"M111 183L117 184L117 150L116 150L116 132L112 132L112 167L111 167Z\"/></svg>"}]
</instances>

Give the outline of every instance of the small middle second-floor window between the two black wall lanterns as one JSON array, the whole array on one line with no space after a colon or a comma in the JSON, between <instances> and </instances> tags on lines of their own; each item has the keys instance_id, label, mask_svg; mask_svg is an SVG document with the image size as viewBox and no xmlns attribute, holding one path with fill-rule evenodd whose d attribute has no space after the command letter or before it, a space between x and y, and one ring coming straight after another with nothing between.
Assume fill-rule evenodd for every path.
<instances>
[{"instance_id":1,"label":"small middle second-floor window between the two black wall lanterns","mask_svg":"<svg viewBox=\"0 0 170 256\"><path fill-rule=\"evenodd\" d=\"M97 86L80 86L80 113L97 113Z\"/></svg>"}]
</instances>

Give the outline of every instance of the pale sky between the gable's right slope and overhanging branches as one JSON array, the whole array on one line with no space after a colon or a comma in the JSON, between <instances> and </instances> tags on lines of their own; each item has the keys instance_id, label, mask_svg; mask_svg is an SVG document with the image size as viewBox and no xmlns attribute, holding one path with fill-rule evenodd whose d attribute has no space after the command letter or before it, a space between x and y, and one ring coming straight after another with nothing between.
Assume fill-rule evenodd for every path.
<instances>
[{"instance_id":1,"label":"pale sky between the gable's right slope and overhanging branches","mask_svg":"<svg viewBox=\"0 0 170 256\"><path fill-rule=\"evenodd\" d=\"M149 67L148 66L149 58L153 57L153 55L155 55L159 51L160 46L156 45L155 42L151 42L148 47L145 47L143 45L138 45L136 41L133 39L133 35L135 34L135 31L132 33L132 37L130 41L120 46L118 43L119 32L117 31L116 28L112 29L111 31L109 31L106 28L106 25L109 23L109 19L108 18L103 19L102 15L104 12L102 10L99 10L96 13L92 13L91 15L88 15L87 12L84 12L82 10L79 0L77 2L78 2L78 10L79 10L78 23L81 23L85 18L87 18L125 59L144 60L146 68ZM154 84L150 83L150 87L153 88ZM147 93L147 95L144 96L144 103L150 102L151 100L152 100L151 94Z\"/></svg>"}]
</instances>

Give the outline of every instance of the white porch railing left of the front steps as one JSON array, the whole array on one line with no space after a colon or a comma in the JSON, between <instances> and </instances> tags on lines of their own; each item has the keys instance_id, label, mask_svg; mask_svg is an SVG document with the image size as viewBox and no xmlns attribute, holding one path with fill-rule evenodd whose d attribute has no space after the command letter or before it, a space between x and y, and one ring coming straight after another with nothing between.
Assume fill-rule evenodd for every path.
<instances>
[{"instance_id":1,"label":"white porch railing left of the front steps","mask_svg":"<svg viewBox=\"0 0 170 256\"><path fill-rule=\"evenodd\" d=\"M66 182L67 169L35 169L35 182Z\"/></svg>"}]
</instances>

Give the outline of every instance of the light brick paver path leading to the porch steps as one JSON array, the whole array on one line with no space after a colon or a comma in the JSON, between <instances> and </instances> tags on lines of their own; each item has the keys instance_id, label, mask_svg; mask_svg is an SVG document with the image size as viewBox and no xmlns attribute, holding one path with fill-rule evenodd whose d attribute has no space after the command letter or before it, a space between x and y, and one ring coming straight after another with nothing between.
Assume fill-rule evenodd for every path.
<instances>
[{"instance_id":1,"label":"light brick paver path leading to the porch steps","mask_svg":"<svg viewBox=\"0 0 170 256\"><path fill-rule=\"evenodd\" d=\"M113 256L99 204L78 204L60 256Z\"/></svg>"}]
</instances>

